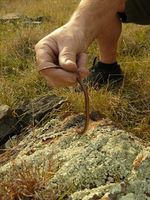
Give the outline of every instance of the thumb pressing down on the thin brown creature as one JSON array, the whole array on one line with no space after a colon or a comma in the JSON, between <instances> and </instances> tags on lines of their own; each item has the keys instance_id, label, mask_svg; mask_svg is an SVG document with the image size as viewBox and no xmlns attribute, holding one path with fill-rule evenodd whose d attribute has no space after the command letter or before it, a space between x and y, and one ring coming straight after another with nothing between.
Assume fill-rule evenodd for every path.
<instances>
[{"instance_id":1,"label":"thumb pressing down on the thin brown creature","mask_svg":"<svg viewBox=\"0 0 150 200\"><path fill-rule=\"evenodd\" d=\"M59 65L67 71L76 72L76 52L69 46L63 47L59 53Z\"/></svg>"}]
</instances>

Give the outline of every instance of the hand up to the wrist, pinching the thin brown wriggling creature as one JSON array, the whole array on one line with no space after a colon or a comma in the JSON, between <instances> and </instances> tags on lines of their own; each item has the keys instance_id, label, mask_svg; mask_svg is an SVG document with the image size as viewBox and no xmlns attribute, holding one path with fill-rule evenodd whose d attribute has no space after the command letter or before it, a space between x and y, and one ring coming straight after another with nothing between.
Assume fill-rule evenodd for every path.
<instances>
[{"instance_id":1,"label":"hand up to the wrist, pinching the thin brown wriggling creature","mask_svg":"<svg viewBox=\"0 0 150 200\"><path fill-rule=\"evenodd\" d=\"M72 86L88 76L85 38L78 27L66 24L40 40L35 46L38 71L55 87Z\"/></svg>"}]
</instances>

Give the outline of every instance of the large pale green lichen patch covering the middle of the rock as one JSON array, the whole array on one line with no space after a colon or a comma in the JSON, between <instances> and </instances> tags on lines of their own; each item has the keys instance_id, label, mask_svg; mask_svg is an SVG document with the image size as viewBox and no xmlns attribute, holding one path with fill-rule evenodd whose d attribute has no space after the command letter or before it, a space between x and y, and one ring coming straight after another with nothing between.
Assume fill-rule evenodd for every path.
<instances>
[{"instance_id":1,"label":"large pale green lichen patch covering the middle of the rock","mask_svg":"<svg viewBox=\"0 0 150 200\"><path fill-rule=\"evenodd\" d=\"M50 187L62 179L66 184L72 181L78 190L104 185L108 176L115 181L127 179L141 147L138 142L131 142L124 131L113 130L108 134L109 128L101 128L102 132L97 129L95 136L92 132L93 138L90 132L81 138L61 138L56 157L62 161L61 167L50 180ZM82 146L76 145L79 140Z\"/></svg>"}]
</instances>

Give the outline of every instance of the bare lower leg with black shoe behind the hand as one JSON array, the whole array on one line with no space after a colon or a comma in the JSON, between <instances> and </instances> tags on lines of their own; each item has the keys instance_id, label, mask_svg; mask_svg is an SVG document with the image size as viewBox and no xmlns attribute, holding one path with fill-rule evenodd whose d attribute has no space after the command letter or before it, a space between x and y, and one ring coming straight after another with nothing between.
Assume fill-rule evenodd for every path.
<instances>
[{"instance_id":1,"label":"bare lower leg with black shoe behind the hand","mask_svg":"<svg viewBox=\"0 0 150 200\"><path fill-rule=\"evenodd\" d=\"M108 21L107 21L108 20ZM101 84L118 83L123 79L120 66L116 62L117 43L121 34L121 21L119 17L105 19L104 26L97 37L100 50L99 60L91 68L89 80L91 85L99 88Z\"/></svg>"}]
</instances>

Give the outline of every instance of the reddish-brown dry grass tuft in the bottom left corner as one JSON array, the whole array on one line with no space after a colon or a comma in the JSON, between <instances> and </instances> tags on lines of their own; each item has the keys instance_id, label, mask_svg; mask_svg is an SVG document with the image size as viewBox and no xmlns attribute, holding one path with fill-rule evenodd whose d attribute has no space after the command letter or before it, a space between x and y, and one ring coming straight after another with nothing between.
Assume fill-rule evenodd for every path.
<instances>
[{"instance_id":1,"label":"reddish-brown dry grass tuft in the bottom left corner","mask_svg":"<svg viewBox=\"0 0 150 200\"><path fill-rule=\"evenodd\" d=\"M44 165L43 165L44 166ZM28 166L24 161L17 166L12 163L10 174L0 183L1 200L41 199L41 192L45 189L47 181L53 177L51 165L44 167ZM51 196L52 197L52 193ZM54 200L54 198L51 198Z\"/></svg>"}]
</instances>

